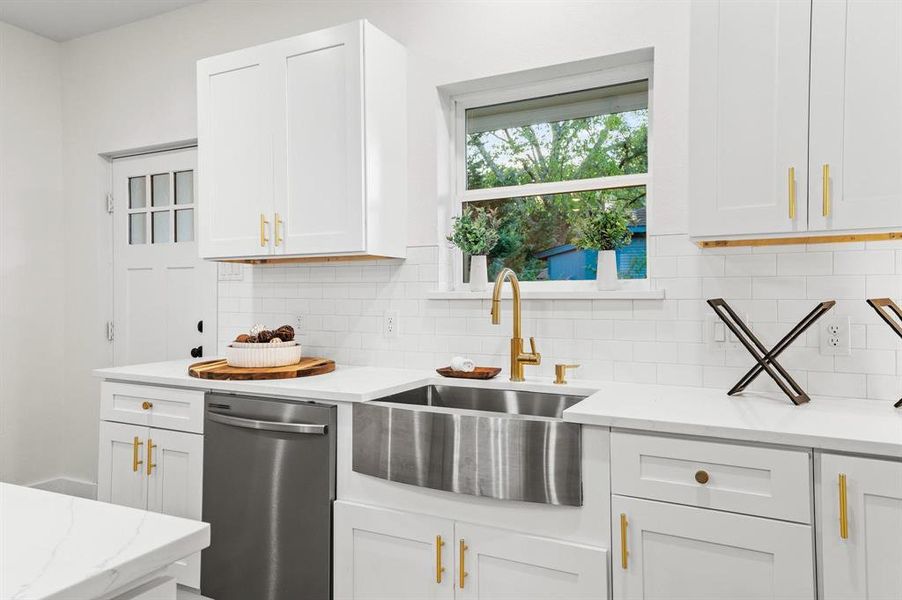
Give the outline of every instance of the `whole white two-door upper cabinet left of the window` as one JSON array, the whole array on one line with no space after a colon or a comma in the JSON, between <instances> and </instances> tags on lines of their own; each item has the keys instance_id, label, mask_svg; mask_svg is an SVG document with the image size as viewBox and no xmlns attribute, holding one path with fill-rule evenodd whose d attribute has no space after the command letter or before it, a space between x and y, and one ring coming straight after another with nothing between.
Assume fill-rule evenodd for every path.
<instances>
[{"instance_id":1,"label":"whole white two-door upper cabinet left of the window","mask_svg":"<svg viewBox=\"0 0 902 600\"><path fill-rule=\"evenodd\" d=\"M404 257L406 95L366 21L198 62L201 255Z\"/></svg>"}]
</instances>

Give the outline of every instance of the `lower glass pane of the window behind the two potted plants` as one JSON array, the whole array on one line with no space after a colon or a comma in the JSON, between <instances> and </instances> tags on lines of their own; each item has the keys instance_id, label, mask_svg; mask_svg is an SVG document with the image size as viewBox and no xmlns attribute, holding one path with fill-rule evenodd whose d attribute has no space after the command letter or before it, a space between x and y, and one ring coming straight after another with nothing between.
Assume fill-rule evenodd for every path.
<instances>
[{"instance_id":1,"label":"lower glass pane of the window behind the two potted plants","mask_svg":"<svg viewBox=\"0 0 902 600\"><path fill-rule=\"evenodd\" d=\"M488 254L489 279L509 267L521 281L595 279L598 252L574 244L581 211L624 207L630 214L629 244L617 250L620 279L646 276L645 186L469 202L497 219L498 243ZM464 282L469 281L464 256Z\"/></svg>"}]
</instances>

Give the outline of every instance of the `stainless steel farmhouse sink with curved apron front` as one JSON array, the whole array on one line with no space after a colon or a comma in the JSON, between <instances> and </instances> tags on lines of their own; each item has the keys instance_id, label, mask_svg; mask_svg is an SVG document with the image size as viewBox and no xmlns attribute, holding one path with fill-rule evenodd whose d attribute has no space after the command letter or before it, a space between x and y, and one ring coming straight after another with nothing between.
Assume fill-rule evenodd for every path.
<instances>
[{"instance_id":1,"label":"stainless steel farmhouse sink with curved apron front","mask_svg":"<svg viewBox=\"0 0 902 600\"><path fill-rule=\"evenodd\" d=\"M459 494L582 505L584 396L430 385L353 408L353 469Z\"/></svg>"}]
</instances>

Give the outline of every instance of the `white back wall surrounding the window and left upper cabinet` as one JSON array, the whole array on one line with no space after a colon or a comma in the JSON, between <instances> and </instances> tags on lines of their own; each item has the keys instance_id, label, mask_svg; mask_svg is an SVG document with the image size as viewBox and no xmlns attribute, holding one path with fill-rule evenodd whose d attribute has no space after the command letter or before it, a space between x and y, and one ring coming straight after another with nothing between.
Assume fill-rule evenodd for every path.
<instances>
[{"instance_id":1,"label":"white back wall surrounding the window and left upper cabinet","mask_svg":"<svg viewBox=\"0 0 902 600\"><path fill-rule=\"evenodd\" d=\"M107 365L109 174L98 153L193 138L195 61L357 18L409 52L408 170L413 245L435 244L439 177L436 86L654 47L657 199L650 225L686 231L688 6L685 2L209 1L63 45L66 213L66 471L94 479L98 385Z\"/></svg>"}]
</instances>

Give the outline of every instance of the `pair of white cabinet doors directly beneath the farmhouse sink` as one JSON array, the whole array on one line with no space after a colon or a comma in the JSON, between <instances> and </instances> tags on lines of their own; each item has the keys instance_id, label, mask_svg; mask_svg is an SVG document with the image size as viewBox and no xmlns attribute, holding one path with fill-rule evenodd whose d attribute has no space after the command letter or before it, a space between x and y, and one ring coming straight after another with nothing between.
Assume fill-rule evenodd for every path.
<instances>
[{"instance_id":1,"label":"pair of white cabinet doors directly beneath the farmhouse sink","mask_svg":"<svg viewBox=\"0 0 902 600\"><path fill-rule=\"evenodd\" d=\"M338 600L607 597L601 548L343 501L334 538Z\"/></svg>"}]
</instances>

